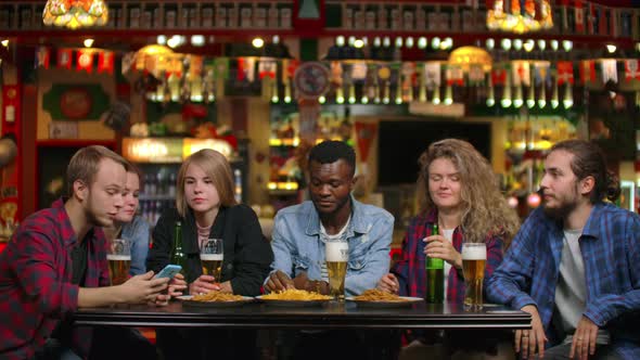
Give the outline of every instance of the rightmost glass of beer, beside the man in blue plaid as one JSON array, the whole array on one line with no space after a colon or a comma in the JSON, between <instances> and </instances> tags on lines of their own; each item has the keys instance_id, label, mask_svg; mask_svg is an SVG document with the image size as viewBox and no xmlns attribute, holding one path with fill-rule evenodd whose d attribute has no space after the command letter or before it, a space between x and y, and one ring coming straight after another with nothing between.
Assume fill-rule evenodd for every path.
<instances>
[{"instance_id":1,"label":"rightmost glass of beer, beside the man in blue plaid","mask_svg":"<svg viewBox=\"0 0 640 360\"><path fill-rule=\"evenodd\" d=\"M483 308L483 281L487 262L487 244L462 244L462 272L466 283L464 307L469 309Z\"/></svg>"}]
</instances>

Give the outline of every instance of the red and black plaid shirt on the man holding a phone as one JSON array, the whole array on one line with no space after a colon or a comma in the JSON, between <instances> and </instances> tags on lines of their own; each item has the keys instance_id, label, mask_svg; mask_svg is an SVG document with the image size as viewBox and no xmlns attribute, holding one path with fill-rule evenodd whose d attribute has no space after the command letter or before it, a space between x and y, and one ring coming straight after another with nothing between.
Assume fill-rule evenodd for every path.
<instances>
[{"instance_id":1,"label":"red and black plaid shirt on the man holding a phone","mask_svg":"<svg viewBox=\"0 0 640 360\"><path fill-rule=\"evenodd\" d=\"M84 287L108 285L106 240L95 228L87 234ZM71 250L76 234L62 200L20 226L0 254L0 358L27 359L78 307L78 285L72 284ZM86 357L91 331L76 327L72 347Z\"/></svg>"}]
</instances>

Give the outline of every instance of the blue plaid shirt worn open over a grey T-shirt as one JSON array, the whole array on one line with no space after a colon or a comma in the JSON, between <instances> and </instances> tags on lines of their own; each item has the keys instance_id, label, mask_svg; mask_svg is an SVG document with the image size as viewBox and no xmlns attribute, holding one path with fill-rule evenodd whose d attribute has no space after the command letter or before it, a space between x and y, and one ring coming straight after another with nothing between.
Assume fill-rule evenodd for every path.
<instances>
[{"instance_id":1,"label":"blue plaid shirt worn open over a grey T-shirt","mask_svg":"<svg viewBox=\"0 0 640 360\"><path fill-rule=\"evenodd\" d=\"M527 218L489 280L487 298L521 309L538 308L548 347L563 338L553 329L562 223L542 208ZM580 235L587 305L584 316L609 330L614 349L624 359L640 359L640 217L611 204L598 204Z\"/></svg>"}]
</instances>

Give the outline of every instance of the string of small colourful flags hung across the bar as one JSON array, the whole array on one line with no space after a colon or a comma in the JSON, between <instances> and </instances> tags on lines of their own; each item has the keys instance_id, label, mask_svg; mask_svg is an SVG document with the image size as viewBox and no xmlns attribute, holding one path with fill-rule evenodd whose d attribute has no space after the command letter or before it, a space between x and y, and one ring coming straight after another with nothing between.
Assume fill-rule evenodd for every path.
<instances>
[{"instance_id":1,"label":"string of small colourful flags hung across the bar","mask_svg":"<svg viewBox=\"0 0 640 360\"><path fill-rule=\"evenodd\" d=\"M54 60L53 60L53 59ZM100 49L36 49L37 67L86 72L89 74L114 74L116 61L121 62L121 70L152 74L159 79L159 90L152 100L214 100L217 79L263 82L263 95L273 102L281 99L290 102L296 99L298 91L293 77L300 66L297 60L274 60L259 57L206 57L181 54L168 57L158 64L153 56L137 56L136 53L121 55ZM52 64L55 62L55 64ZM522 98L522 88L534 88L538 97L546 97L546 89L558 86L571 91L575 86L588 86L606 82L631 82L640 80L638 59L593 59L580 61L538 61L513 60L485 64L459 65L445 61L426 62L322 62L328 68L330 91L321 95L334 98L336 103L357 101L356 90L360 90L361 103L404 103L411 101L439 102L449 100L451 88L483 88L488 98L494 88L500 87L502 98ZM318 76L323 76L319 74ZM444 88L444 89L443 89ZM445 90L443 99L440 91ZM200 95L193 97L194 93ZM203 95L204 93L204 95ZM529 97L534 91L529 90ZM530 100L530 99L529 99ZM489 103L487 103L489 104Z\"/></svg>"}]
</instances>

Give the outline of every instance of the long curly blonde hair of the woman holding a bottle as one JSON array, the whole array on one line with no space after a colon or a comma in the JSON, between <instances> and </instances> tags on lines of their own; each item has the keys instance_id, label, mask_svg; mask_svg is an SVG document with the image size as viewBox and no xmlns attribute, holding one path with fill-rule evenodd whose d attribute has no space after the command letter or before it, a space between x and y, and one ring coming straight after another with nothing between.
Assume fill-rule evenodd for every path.
<instances>
[{"instance_id":1,"label":"long curly blonde hair of the woman holding a bottle","mask_svg":"<svg viewBox=\"0 0 640 360\"><path fill-rule=\"evenodd\" d=\"M460 226L464 237L472 242L484 242L487 235L499 235L504 247L509 246L520 227L517 214L500 193L489 162L466 141L440 140L420 155L417 190L421 210L426 213L435 207L428 194L428 166L437 158L449 159L460 173Z\"/></svg>"}]
</instances>

